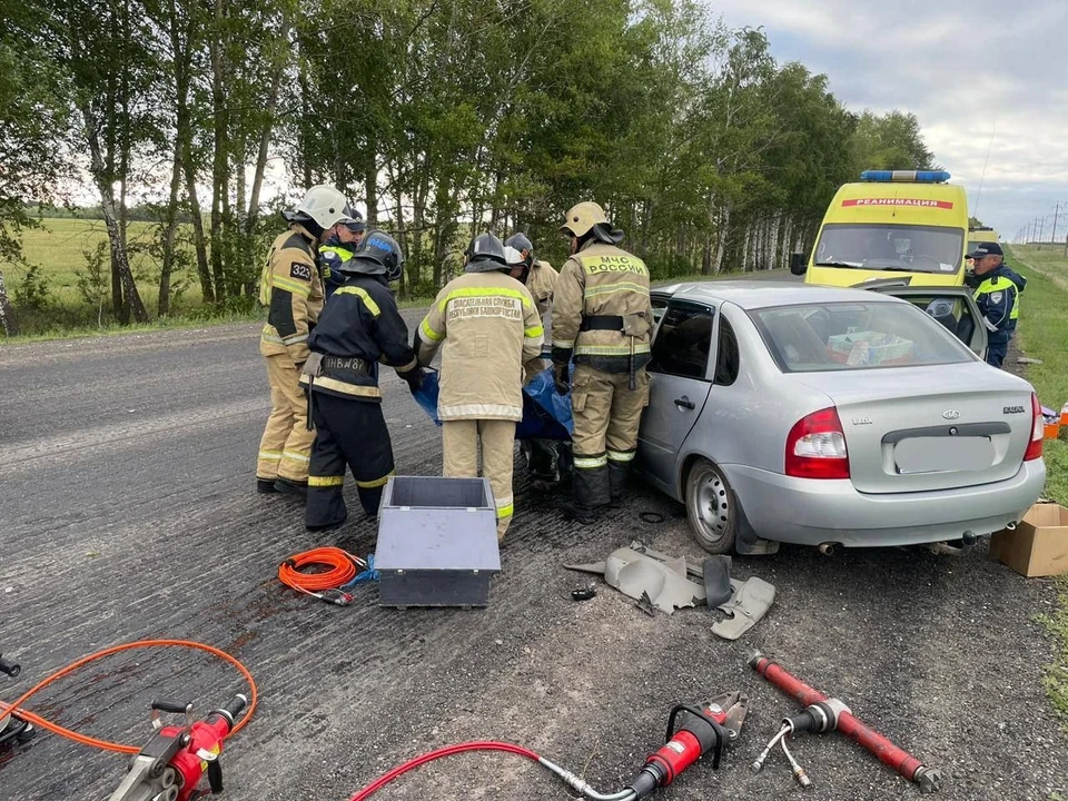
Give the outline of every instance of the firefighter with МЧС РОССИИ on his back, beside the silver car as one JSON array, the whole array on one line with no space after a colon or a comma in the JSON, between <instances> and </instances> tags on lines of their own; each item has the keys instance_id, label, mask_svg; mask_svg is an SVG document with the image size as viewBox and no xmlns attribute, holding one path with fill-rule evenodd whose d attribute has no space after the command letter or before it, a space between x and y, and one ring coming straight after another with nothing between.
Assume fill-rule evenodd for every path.
<instances>
[{"instance_id":1,"label":"firefighter with \u041c\u0427\u0421 \u0420\u041e\u0421\u0421\u0418\u0418 on his back, beside the silver car","mask_svg":"<svg viewBox=\"0 0 1068 801\"><path fill-rule=\"evenodd\" d=\"M574 419L572 498L568 520L596 522L600 508L617 503L637 448L642 409L649 404L649 269L617 247L595 202L570 211L561 230L571 238L571 258L561 268L553 297L553 373L556 389L568 389Z\"/></svg>"}]
</instances>

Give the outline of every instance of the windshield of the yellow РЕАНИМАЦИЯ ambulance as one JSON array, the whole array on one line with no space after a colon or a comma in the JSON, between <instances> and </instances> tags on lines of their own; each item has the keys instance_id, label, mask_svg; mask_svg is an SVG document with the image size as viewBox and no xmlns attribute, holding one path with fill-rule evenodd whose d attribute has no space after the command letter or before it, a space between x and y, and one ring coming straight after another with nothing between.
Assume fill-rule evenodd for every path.
<instances>
[{"instance_id":1,"label":"windshield of the yellow \u0420\u0415\u0410\u041d\u0418\u041c\u0410\u0426\u0418\u042f ambulance","mask_svg":"<svg viewBox=\"0 0 1068 801\"><path fill-rule=\"evenodd\" d=\"M891 273L956 273L963 230L941 226L833 224L823 226L817 266Z\"/></svg>"}]
</instances>

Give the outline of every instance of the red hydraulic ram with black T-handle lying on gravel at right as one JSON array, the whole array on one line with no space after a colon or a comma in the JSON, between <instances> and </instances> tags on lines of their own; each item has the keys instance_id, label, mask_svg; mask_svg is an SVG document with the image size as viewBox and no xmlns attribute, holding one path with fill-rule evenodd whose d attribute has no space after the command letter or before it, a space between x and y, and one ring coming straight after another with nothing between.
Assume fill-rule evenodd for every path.
<instances>
[{"instance_id":1,"label":"red hydraulic ram with black T-handle lying on gravel at right","mask_svg":"<svg viewBox=\"0 0 1068 801\"><path fill-rule=\"evenodd\" d=\"M893 770L909 781L916 782L920 788L920 792L934 792L938 790L941 771L934 768L927 768L916 756L894 745L874 729L867 726L858 720L849 706L839 699L828 698L818 690L813 690L800 679L791 675L780 665L764 656L760 651L756 651L752 655L749 664L769 682L805 705L804 711L800 714L783 719L779 733L771 739L760 756L753 762L752 768L754 772L763 768L768 755L778 744L790 762L790 767L793 769L793 775L802 787L809 787L812 781L804 772L804 769L801 768L793 758L793 754L787 745L787 739L792 734L801 734L804 732L823 733L840 731L853 742L871 751L883 764L893 768Z\"/></svg>"}]
</instances>

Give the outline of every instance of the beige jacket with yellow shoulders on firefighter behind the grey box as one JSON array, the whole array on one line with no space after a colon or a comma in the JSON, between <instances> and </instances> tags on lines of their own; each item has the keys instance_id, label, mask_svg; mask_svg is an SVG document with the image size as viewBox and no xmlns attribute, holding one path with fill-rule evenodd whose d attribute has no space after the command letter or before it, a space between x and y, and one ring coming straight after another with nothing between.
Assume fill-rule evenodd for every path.
<instances>
[{"instance_id":1,"label":"beige jacket with yellow shoulders on firefighter behind the grey box","mask_svg":"<svg viewBox=\"0 0 1068 801\"><path fill-rule=\"evenodd\" d=\"M438 293L417 334L419 364L442 349L441 419L522 419L523 365L544 340L530 289L505 273L467 273Z\"/></svg>"}]
</instances>

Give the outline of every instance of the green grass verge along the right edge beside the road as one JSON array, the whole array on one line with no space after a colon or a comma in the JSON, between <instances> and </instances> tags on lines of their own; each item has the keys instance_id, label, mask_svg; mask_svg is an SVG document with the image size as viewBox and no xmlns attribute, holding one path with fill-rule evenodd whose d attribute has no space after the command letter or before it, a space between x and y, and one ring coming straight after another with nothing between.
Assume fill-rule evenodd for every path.
<instances>
[{"instance_id":1,"label":"green grass verge along the right edge beside the road","mask_svg":"<svg viewBox=\"0 0 1068 801\"><path fill-rule=\"evenodd\" d=\"M1028 365L1027 378L1042 404L1055 409L1068 402L1068 258L1062 248L1013 247L1012 267L1027 278L1027 291L1020 299L1020 345L1040 365ZM1068 506L1068 443L1047 442L1048 478L1046 494ZM1057 580L1058 607L1042 617L1057 643L1057 660L1046 676L1046 689L1054 706L1068 720L1068 576Z\"/></svg>"}]
</instances>

